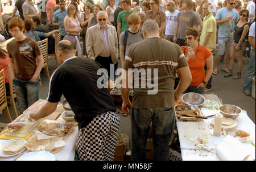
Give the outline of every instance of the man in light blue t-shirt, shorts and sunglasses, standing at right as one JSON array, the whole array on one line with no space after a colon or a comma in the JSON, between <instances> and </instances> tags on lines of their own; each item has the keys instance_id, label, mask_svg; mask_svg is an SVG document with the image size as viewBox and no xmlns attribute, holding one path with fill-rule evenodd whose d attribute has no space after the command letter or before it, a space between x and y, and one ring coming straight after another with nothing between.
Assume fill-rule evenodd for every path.
<instances>
[{"instance_id":1,"label":"man in light blue t-shirt, shorts and sunglasses, standing at right","mask_svg":"<svg viewBox=\"0 0 256 172\"><path fill-rule=\"evenodd\" d=\"M218 51L216 56L216 63L213 70L213 74L217 75L218 64L220 63L222 55L225 54L224 64L222 71L228 72L226 67L230 58L230 48L233 42L233 37L230 37L230 33L233 32L234 26L239 19L239 14L234 10L234 0L227 0L226 7L218 10L215 18L218 24Z\"/></svg>"}]
</instances>

